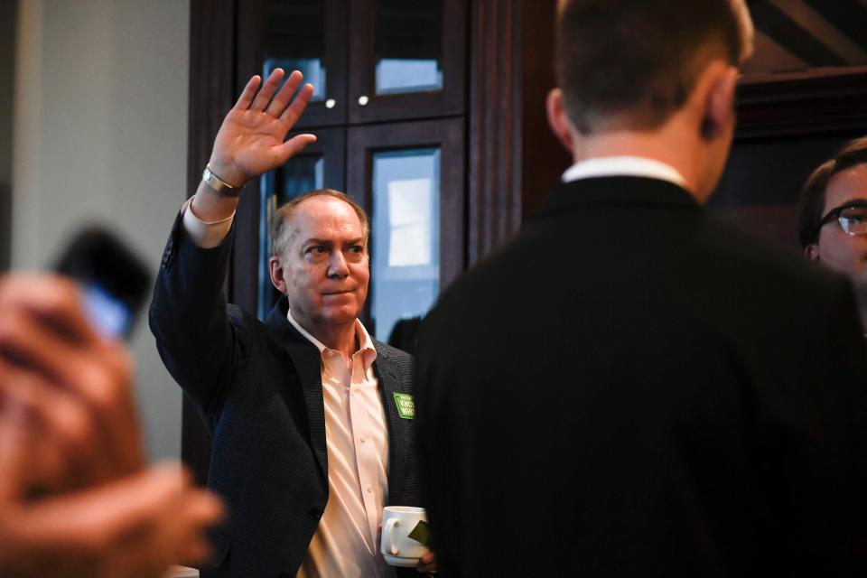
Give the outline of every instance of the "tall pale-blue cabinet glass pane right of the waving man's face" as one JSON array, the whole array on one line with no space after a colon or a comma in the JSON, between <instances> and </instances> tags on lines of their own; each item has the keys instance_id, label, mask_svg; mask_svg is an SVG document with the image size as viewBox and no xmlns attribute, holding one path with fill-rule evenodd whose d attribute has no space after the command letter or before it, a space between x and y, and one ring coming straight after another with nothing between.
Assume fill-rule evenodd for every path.
<instances>
[{"instance_id":1,"label":"tall pale-blue cabinet glass pane right of the waving man's face","mask_svg":"<svg viewBox=\"0 0 867 578\"><path fill-rule=\"evenodd\" d=\"M370 313L379 340L424 315L440 285L440 150L373 155Z\"/></svg>"}]
</instances>

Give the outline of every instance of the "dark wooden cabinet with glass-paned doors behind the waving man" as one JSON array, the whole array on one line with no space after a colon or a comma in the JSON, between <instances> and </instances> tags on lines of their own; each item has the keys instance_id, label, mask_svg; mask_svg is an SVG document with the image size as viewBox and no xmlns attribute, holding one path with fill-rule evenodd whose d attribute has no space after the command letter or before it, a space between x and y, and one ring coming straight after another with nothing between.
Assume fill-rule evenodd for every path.
<instances>
[{"instance_id":1,"label":"dark wooden cabinet with glass-paned doors behind the waving man","mask_svg":"<svg viewBox=\"0 0 867 578\"><path fill-rule=\"evenodd\" d=\"M509 238L569 164L545 124L555 5L191 0L190 191L247 79L285 66L319 85L296 126L318 142L241 198L230 301L269 309L269 216L303 189L346 191L370 212L365 322L384 340ZM204 481L210 443L187 402L182 438Z\"/></svg>"}]
</instances>

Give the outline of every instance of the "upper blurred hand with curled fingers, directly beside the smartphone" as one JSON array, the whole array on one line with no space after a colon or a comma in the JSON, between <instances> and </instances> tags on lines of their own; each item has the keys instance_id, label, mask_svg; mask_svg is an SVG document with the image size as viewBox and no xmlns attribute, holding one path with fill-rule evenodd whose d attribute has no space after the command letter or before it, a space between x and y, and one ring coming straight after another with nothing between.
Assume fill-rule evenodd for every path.
<instances>
[{"instance_id":1,"label":"upper blurred hand with curled fingers, directly beside the smartphone","mask_svg":"<svg viewBox=\"0 0 867 578\"><path fill-rule=\"evenodd\" d=\"M0 278L0 404L23 406L33 490L78 489L144 466L132 362L61 277ZM38 436L37 436L38 433Z\"/></svg>"}]
</instances>

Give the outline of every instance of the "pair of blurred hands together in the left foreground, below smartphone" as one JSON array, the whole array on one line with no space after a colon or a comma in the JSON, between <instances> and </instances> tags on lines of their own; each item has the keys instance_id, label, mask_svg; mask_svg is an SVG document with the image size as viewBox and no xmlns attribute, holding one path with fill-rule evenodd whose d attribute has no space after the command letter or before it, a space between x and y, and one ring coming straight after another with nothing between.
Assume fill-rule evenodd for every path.
<instances>
[{"instance_id":1,"label":"pair of blurred hands together in the left foreground, below smartphone","mask_svg":"<svg viewBox=\"0 0 867 578\"><path fill-rule=\"evenodd\" d=\"M207 555L219 501L144 469L131 364L74 284L0 278L0 575L157 576Z\"/></svg>"}]
</instances>

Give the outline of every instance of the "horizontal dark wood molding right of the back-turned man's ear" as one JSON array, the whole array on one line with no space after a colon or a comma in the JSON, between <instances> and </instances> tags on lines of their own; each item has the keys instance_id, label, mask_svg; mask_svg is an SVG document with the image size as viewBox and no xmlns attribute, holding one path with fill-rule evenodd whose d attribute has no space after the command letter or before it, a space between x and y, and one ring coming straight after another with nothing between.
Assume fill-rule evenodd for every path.
<instances>
[{"instance_id":1,"label":"horizontal dark wood molding right of the back-turned man's ear","mask_svg":"<svg viewBox=\"0 0 867 578\"><path fill-rule=\"evenodd\" d=\"M867 132L867 66L750 75L738 86L736 140Z\"/></svg>"}]
</instances>

